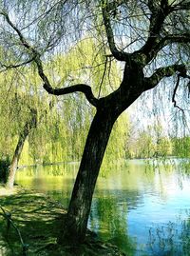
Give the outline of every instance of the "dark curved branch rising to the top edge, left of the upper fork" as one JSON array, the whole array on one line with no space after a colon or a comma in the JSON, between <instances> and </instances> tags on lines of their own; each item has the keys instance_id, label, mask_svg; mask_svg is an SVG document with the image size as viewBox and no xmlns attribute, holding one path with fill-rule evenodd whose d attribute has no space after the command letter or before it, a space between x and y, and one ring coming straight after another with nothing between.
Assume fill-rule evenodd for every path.
<instances>
[{"instance_id":1,"label":"dark curved branch rising to the top edge, left of the upper fork","mask_svg":"<svg viewBox=\"0 0 190 256\"><path fill-rule=\"evenodd\" d=\"M115 7L116 8L116 7ZM119 61L128 61L130 57L130 53L123 52L116 48L113 30L111 28L110 22L110 5L107 0L102 1L102 11L103 11L103 18L104 18L104 28L106 32L106 37L109 45L109 49L113 56Z\"/></svg>"}]
</instances>

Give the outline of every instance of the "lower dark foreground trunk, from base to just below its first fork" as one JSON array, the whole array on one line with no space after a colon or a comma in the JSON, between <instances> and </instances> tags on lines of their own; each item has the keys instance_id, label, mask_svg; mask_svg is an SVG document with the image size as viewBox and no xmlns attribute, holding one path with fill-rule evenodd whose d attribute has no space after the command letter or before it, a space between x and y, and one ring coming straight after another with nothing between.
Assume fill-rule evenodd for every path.
<instances>
[{"instance_id":1,"label":"lower dark foreground trunk, from base to just below its first fork","mask_svg":"<svg viewBox=\"0 0 190 256\"><path fill-rule=\"evenodd\" d=\"M60 244L78 244L84 241L92 195L104 151L116 121L108 109L98 109L92 121L85 143L85 150L76 182L72 191L63 231L58 238Z\"/></svg>"}]
</instances>

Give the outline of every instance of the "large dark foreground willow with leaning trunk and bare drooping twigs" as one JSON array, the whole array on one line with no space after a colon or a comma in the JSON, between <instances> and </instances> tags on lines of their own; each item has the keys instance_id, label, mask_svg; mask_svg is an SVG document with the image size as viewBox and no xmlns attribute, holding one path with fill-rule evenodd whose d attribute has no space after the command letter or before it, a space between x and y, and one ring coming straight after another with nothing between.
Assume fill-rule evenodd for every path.
<instances>
[{"instance_id":1,"label":"large dark foreground willow with leaning trunk and bare drooping twigs","mask_svg":"<svg viewBox=\"0 0 190 256\"><path fill-rule=\"evenodd\" d=\"M94 187L111 130L118 117L144 91L154 89L163 79L171 82L166 78L172 76L178 79L176 84L168 83L173 89L171 100L180 109L177 91L180 81L189 78L190 3L185 0L65 0L48 1L47 4L47 1L20 0L21 10L15 8L16 2L9 9L9 1L6 1L1 11L4 26L9 28L3 30L1 35L7 44L9 38L11 48L15 48L15 61L22 56L17 67L34 62L48 93L60 96L82 92L96 109L85 141L65 226L59 237L59 243L75 244L85 239ZM31 3L34 11L31 11ZM15 14L14 18L10 17L12 13ZM25 17L23 22L19 18L21 14ZM8 33L6 37L7 31L14 36ZM75 40L82 40L86 35L94 37L97 48L105 49L104 73L108 74L108 63L113 59L123 69L123 78L117 89L104 96L93 93L85 83L90 79L85 80L80 75L77 81L81 83L73 84L72 80L67 80L63 87L61 83L56 86L51 83L50 75L43 66L52 48L66 52L69 47L74 47ZM84 69L87 69L85 63ZM101 90L103 83L98 86Z\"/></svg>"}]
</instances>

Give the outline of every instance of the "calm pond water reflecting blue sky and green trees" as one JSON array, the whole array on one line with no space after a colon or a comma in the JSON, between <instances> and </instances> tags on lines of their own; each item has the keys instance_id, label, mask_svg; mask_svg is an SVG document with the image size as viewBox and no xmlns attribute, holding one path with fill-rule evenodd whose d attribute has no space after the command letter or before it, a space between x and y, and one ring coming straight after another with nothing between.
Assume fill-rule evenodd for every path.
<instances>
[{"instance_id":1,"label":"calm pond water reflecting blue sky and green trees","mask_svg":"<svg viewBox=\"0 0 190 256\"><path fill-rule=\"evenodd\" d=\"M190 177L180 164L130 160L111 167L96 186L88 226L127 255L190 255ZM188 167L187 167L188 168ZM66 207L78 164L25 167L16 182ZM190 173L190 171L189 171Z\"/></svg>"}]
</instances>

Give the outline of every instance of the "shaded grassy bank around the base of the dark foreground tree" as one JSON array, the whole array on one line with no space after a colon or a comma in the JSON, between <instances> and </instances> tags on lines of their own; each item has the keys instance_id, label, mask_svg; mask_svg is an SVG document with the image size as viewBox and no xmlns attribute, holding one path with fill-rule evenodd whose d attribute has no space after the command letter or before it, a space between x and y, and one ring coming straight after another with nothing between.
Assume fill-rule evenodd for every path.
<instances>
[{"instance_id":1,"label":"shaded grassy bank around the base of the dark foreground tree","mask_svg":"<svg viewBox=\"0 0 190 256\"><path fill-rule=\"evenodd\" d=\"M0 185L0 206L11 214L27 247L27 256L121 256L116 246L104 244L88 232L84 245L63 247L56 244L66 209L45 194L21 187L7 190ZM0 256L24 255L18 231L10 225L0 209Z\"/></svg>"}]
</instances>

